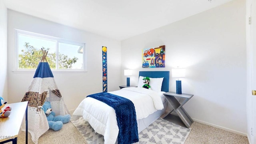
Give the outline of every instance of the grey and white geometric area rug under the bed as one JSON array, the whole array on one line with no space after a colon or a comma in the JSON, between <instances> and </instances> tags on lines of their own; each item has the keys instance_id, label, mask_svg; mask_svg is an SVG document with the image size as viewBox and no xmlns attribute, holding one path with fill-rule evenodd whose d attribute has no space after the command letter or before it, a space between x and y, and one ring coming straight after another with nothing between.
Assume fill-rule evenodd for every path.
<instances>
[{"instance_id":1,"label":"grey and white geometric area rug under the bed","mask_svg":"<svg viewBox=\"0 0 256 144\"><path fill-rule=\"evenodd\" d=\"M71 122L88 144L104 144L104 136L98 134L82 117ZM139 133L136 144L184 144L191 128L184 128L162 118L158 118L148 128Z\"/></svg>"}]
</instances>

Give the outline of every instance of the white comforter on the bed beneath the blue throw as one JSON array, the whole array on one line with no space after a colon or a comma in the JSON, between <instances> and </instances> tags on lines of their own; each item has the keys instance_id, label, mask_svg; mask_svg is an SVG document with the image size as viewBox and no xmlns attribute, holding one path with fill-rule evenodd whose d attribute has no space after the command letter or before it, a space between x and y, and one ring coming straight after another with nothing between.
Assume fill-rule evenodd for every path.
<instances>
[{"instance_id":1,"label":"white comforter on the bed beneath the blue throw","mask_svg":"<svg viewBox=\"0 0 256 144\"><path fill-rule=\"evenodd\" d=\"M131 100L134 104L137 120L164 108L161 96L163 92L156 92L146 88L122 88L109 92ZM114 144L118 137L118 125L115 110L94 98L85 98L74 111L73 115L83 116L92 128L104 136L105 144Z\"/></svg>"}]
</instances>

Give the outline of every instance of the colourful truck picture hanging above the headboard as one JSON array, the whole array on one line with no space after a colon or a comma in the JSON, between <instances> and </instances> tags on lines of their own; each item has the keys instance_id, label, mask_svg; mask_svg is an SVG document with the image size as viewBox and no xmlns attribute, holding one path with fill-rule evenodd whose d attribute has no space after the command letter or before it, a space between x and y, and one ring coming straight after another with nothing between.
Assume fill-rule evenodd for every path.
<instances>
[{"instance_id":1,"label":"colourful truck picture hanging above the headboard","mask_svg":"<svg viewBox=\"0 0 256 144\"><path fill-rule=\"evenodd\" d=\"M165 46L144 48L142 51L142 68L164 68Z\"/></svg>"}]
</instances>

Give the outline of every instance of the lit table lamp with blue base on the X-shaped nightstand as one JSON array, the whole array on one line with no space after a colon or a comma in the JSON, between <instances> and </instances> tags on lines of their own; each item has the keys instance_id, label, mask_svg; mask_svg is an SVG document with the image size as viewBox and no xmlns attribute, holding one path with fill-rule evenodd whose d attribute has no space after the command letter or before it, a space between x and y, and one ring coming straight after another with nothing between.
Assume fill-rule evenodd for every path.
<instances>
[{"instance_id":1,"label":"lit table lamp with blue base on the X-shaped nightstand","mask_svg":"<svg viewBox=\"0 0 256 144\"><path fill-rule=\"evenodd\" d=\"M172 77L178 78L178 80L176 80L176 94L182 94L181 80L179 80L179 78L184 78L185 75L186 75L185 68L172 69Z\"/></svg>"}]
</instances>

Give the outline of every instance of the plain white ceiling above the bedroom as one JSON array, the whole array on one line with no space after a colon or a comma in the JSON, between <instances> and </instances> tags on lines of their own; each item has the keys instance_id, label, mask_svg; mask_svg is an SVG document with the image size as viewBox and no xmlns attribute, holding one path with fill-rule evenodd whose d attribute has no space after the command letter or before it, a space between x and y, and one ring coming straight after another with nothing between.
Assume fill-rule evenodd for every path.
<instances>
[{"instance_id":1,"label":"plain white ceiling above the bedroom","mask_svg":"<svg viewBox=\"0 0 256 144\"><path fill-rule=\"evenodd\" d=\"M232 0L4 0L6 7L116 40Z\"/></svg>"}]
</instances>

